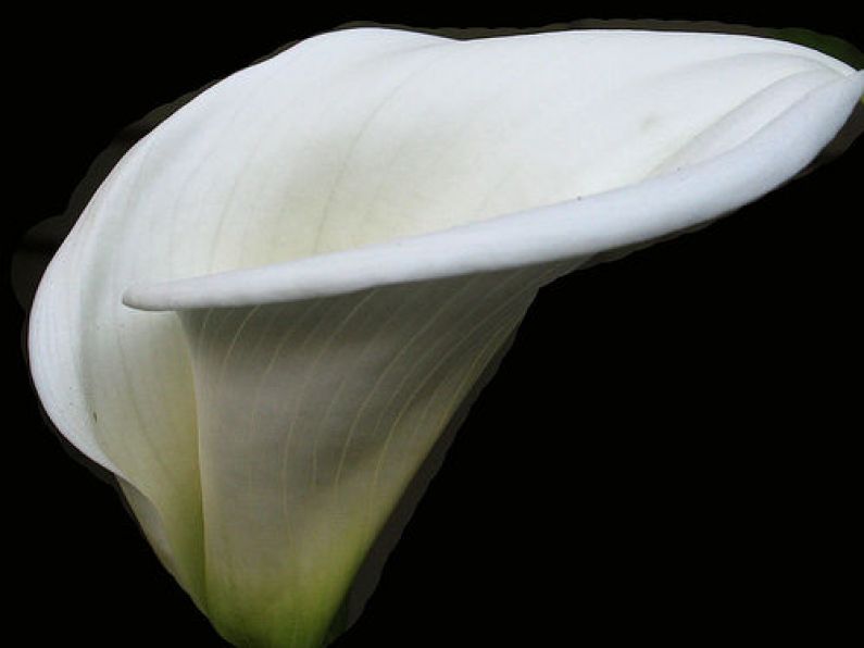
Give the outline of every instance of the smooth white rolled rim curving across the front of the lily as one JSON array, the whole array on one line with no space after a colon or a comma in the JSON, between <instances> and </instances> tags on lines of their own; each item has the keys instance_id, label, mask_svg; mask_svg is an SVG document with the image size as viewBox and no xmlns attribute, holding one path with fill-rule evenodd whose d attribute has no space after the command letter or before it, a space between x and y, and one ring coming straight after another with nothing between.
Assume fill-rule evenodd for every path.
<instances>
[{"instance_id":1,"label":"smooth white rolled rim curving across the front of the lily","mask_svg":"<svg viewBox=\"0 0 864 648\"><path fill-rule=\"evenodd\" d=\"M739 209L804 169L864 95L864 71L807 94L729 151L640 183L480 223L285 263L128 287L147 311L267 304L554 262Z\"/></svg>"}]
</instances>

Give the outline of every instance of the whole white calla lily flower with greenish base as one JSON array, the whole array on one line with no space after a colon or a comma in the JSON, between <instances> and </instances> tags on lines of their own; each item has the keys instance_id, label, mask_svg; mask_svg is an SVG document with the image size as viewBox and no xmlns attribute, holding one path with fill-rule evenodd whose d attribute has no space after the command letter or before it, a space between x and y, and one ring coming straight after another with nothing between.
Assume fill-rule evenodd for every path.
<instances>
[{"instance_id":1,"label":"whole white calla lily flower with greenish base","mask_svg":"<svg viewBox=\"0 0 864 648\"><path fill-rule=\"evenodd\" d=\"M113 169L29 324L45 410L238 646L320 646L537 290L801 172L864 72L749 36L354 28Z\"/></svg>"}]
</instances>

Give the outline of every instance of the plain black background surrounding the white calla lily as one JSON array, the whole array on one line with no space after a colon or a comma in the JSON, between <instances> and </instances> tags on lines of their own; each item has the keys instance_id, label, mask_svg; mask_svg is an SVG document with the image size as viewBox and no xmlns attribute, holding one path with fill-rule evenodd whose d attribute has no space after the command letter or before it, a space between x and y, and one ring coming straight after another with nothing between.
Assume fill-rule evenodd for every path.
<instances>
[{"instance_id":1,"label":"plain black background surrounding the white calla lily","mask_svg":"<svg viewBox=\"0 0 864 648\"><path fill-rule=\"evenodd\" d=\"M809 4L809 3L807 3ZM367 7L367 5L366 5ZM92 159L149 110L350 20L540 26L581 17L805 26L860 48L821 2L313 17L239 3L180 17L9 16L4 265L64 211ZM849 7L849 4L847 4ZM320 17L318 17L320 16ZM702 232L543 289L461 429L359 624L354 646L701 645L818 637L860 583L862 142ZM115 491L48 429L7 290L16 413L3 428L7 632L20 645L223 646ZM14 421L14 422L12 422ZM857 610L856 610L857 611Z\"/></svg>"}]
</instances>

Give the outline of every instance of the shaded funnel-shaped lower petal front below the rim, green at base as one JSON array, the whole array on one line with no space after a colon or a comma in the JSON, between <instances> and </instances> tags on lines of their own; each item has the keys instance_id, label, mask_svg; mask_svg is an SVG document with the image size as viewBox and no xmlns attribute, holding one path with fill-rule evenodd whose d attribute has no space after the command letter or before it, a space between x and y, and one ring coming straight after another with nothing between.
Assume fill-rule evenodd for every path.
<instances>
[{"instance_id":1,"label":"shaded funnel-shaped lower petal front below the rim, green at base","mask_svg":"<svg viewBox=\"0 0 864 648\"><path fill-rule=\"evenodd\" d=\"M321 643L441 429L537 288L562 272L183 314L201 412L208 601L226 637Z\"/></svg>"}]
</instances>

